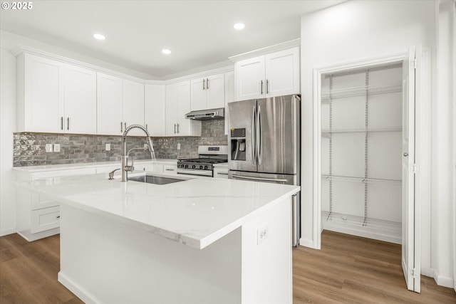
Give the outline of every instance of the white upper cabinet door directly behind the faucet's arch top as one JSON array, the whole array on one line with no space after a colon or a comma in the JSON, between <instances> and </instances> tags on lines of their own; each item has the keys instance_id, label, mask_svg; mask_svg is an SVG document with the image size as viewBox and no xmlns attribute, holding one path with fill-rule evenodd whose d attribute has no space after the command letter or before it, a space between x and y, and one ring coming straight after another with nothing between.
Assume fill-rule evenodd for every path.
<instances>
[{"instance_id":1,"label":"white upper cabinet door directly behind the faucet's arch top","mask_svg":"<svg viewBox=\"0 0 456 304\"><path fill-rule=\"evenodd\" d=\"M144 85L132 80L123 80L123 122L129 125L144 126ZM144 135L139 129L133 129L128 135Z\"/></svg>"}]
</instances>

